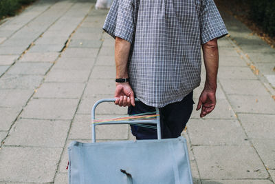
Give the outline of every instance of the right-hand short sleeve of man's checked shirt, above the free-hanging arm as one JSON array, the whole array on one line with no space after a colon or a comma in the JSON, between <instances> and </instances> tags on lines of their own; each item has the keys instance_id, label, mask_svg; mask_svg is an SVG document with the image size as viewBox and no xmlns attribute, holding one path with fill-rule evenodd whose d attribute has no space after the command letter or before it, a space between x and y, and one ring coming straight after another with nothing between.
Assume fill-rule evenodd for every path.
<instances>
[{"instance_id":1,"label":"right-hand short sleeve of man's checked shirt, above the free-hanging arm","mask_svg":"<svg viewBox=\"0 0 275 184\"><path fill-rule=\"evenodd\" d=\"M219 14L219 10L213 0L201 1L199 24L201 29L201 44L215 38L219 39L228 34L223 19L221 19L221 14Z\"/></svg>"}]
</instances>

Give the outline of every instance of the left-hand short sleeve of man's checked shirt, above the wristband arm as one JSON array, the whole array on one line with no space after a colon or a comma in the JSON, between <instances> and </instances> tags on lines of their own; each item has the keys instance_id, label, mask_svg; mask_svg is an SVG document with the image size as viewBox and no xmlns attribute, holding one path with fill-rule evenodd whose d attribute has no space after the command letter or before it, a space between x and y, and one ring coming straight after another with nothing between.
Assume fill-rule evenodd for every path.
<instances>
[{"instance_id":1,"label":"left-hand short sleeve of man's checked shirt, above the wristband arm","mask_svg":"<svg viewBox=\"0 0 275 184\"><path fill-rule=\"evenodd\" d=\"M133 14L132 1L114 0L104 22L103 30L113 38L120 37L132 43L135 32Z\"/></svg>"}]
</instances>

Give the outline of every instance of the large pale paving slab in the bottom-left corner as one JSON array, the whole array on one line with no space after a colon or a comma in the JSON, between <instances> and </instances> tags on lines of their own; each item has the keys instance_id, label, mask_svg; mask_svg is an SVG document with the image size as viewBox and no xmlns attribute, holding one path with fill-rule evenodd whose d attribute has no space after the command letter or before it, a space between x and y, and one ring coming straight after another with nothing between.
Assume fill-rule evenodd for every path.
<instances>
[{"instance_id":1,"label":"large pale paving slab in the bottom-left corner","mask_svg":"<svg viewBox=\"0 0 275 184\"><path fill-rule=\"evenodd\" d=\"M61 148L4 146L0 150L0 181L53 182L61 151Z\"/></svg>"}]
</instances>

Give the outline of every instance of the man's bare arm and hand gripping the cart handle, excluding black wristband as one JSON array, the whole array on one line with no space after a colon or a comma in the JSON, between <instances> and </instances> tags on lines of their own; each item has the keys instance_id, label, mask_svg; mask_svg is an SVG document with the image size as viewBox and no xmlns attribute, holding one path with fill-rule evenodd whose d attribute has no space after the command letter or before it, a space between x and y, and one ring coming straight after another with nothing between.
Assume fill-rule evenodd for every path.
<instances>
[{"instance_id":1,"label":"man's bare arm and hand gripping the cart handle, excluding black wristband","mask_svg":"<svg viewBox=\"0 0 275 184\"><path fill-rule=\"evenodd\" d=\"M115 38L115 68L116 68L116 79L129 78L127 63L129 53L131 50L131 43L119 37ZM129 84L126 83L115 83L115 104L120 106L131 106L135 105L135 99L133 90Z\"/></svg>"}]
</instances>

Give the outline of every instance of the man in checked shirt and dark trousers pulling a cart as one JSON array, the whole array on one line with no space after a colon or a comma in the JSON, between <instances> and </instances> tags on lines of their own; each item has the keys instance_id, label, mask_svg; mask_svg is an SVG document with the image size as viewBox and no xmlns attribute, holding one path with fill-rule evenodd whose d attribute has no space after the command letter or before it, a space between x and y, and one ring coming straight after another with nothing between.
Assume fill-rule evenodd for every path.
<instances>
[{"instance_id":1,"label":"man in checked shirt and dark trousers pulling a cart","mask_svg":"<svg viewBox=\"0 0 275 184\"><path fill-rule=\"evenodd\" d=\"M192 90L206 82L197 110L216 104L217 39L228 34L213 0L114 0L103 29L115 38L115 104L129 114L159 108L162 138L180 136L192 112ZM134 96L141 102L135 102ZM156 131L131 126L137 139Z\"/></svg>"}]
</instances>

